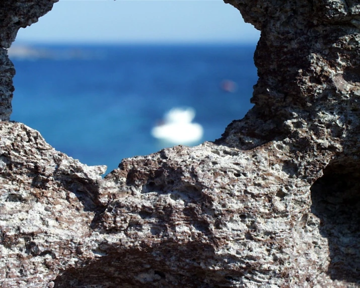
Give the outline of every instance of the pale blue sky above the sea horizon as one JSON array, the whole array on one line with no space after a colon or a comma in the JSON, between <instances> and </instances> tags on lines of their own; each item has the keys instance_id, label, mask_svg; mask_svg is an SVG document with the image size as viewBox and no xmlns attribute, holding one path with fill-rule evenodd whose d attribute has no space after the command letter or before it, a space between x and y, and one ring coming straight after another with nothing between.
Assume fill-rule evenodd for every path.
<instances>
[{"instance_id":1,"label":"pale blue sky above the sea horizon","mask_svg":"<svg viewBox=\"0 0 360 288\"><path fill-rule=\"evenodd\" d=\"M60 0L17 43L256 43L222 0Z\"/></svg>"}]
</instances>

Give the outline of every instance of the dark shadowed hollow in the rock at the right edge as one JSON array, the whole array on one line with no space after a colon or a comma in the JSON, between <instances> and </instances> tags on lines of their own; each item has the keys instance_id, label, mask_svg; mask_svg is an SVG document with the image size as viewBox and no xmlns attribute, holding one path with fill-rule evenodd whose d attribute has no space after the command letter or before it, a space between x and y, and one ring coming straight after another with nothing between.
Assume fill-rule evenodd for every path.
<instances>
[{"instance_id":1,"label":"dark shadowed hollow in the rock at the right edge","mask_svg":"<svg viewBox=\"0 0 360 288\"><path fill-rule=\"evenodd\" d=\"M332 279L360 283L360 168L329 165L311 187L312 212L328 239Z\"/></svg>"}]
</instances>

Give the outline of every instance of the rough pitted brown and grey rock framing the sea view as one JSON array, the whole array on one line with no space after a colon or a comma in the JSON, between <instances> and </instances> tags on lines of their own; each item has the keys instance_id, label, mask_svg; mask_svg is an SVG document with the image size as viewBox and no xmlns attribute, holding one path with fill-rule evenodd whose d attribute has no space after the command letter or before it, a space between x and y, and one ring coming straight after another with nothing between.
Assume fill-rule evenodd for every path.
<instances>
[{"instance_id":1,"label":"rough pitted brown and grey rock framing the sea view","mask_svg":"<svg viewBox=\"0 0 360 288\"><path fill-rule=\"evenodd\" d=\"M261 30L259 81L214 143L124 159L102 179L0 122L2 287L360 285L360 2L228 2ZM51 8L4 3L20 26ZM7 21L3 47L19 27Z\"/></svg>"}]
</instances>

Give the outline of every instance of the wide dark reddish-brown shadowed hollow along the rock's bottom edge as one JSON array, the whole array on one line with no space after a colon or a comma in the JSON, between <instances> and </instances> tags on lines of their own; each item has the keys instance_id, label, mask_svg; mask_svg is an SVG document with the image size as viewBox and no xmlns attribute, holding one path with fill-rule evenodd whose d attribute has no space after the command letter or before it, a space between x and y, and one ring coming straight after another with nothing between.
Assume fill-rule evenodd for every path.
<instances>
[{"instance_id":1,"label":"wide dark reddish-brown shadowed hollow along the rock's bottom edge","mask_svg":"<svg viewBox=\"0 0 360 288\"><path fill-rule=\"evenodd\" d=\"M55 287L229 287L243 275L207 268L217 261L208 244L168 242L156 248L122 252L111 248L103 253L107 255L62 272Z\"/></svg>"}]
</instances>

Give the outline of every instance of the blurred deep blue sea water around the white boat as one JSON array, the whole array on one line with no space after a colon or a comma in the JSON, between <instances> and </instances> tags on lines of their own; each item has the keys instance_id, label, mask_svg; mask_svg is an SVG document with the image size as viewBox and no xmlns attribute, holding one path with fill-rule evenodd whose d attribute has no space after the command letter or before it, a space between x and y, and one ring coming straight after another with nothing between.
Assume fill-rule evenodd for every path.
<instances>
[{"instance_id":1,"label":"blurred deep blue sea water around the white boat","mask_svg":"<svg viewBox=\"0 0 360 288\"><path fill-rule=\"evenodd\" d=\"M201 141L220 138L252 107L255 45L35 46L16 67L12 120L56 150L107 165L162 149L152 127L173 107L196 110ZM234 93L222 89L234 81Z\"/></svg>"}]
</instances>

